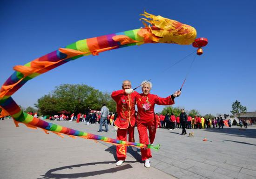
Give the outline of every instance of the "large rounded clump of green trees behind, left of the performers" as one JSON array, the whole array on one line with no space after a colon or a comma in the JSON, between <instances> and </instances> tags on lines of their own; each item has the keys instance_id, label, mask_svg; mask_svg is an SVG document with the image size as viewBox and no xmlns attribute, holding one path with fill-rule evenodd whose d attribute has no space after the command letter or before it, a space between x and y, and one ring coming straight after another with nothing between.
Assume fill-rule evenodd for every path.
<instances>
[{"instance_id":1,"label":"large rounded clump of green trees behind, left of the performers","mask_svg":"<svg viewBox=\"0 0 256 179\"><path fill-rule=\"evenodd\" d=\"M115 112L116 104L109 93L102 93L87 85L63 84L54 91L38 99L35 104L43 115L54 115L60 111L85 113L86 108L100 110L105 103L111 112Z\"/></svg>"}]
</instances>

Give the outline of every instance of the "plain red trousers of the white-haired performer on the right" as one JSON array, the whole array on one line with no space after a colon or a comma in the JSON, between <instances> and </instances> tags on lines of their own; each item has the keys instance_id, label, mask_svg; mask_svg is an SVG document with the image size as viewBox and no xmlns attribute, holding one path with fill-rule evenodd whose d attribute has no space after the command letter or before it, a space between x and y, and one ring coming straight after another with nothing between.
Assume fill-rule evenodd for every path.
<instances>
[{"instance_id":1,"label":"plain red trousers of the white-haired performer on the right","mask_svg":"<svg viewBox=\"0 0 256 179\"><path fill-rule=\"evenodd\" d=\"M147 131L148 128L148 131ZM149 144L148 141L148 133L150 144L153 144L156 133L156 125L152 124L152 122L148 123L137 123L137 129L139 132L140 143L141 144ZM142 161L151 158L151 150L148 148L141 148L141 159Z\"/></svg>"}]
</instances>

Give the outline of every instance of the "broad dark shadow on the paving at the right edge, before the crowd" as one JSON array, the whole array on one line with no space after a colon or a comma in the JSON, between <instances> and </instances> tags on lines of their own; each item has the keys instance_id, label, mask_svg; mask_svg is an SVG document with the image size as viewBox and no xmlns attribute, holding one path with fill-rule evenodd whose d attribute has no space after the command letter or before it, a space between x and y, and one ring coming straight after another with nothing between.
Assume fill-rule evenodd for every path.
<instances>
[{"instance_id":1,"label":"broad dark shadow on the paving at the right edge, before the crowd","mask_svg":"<svg viewBox=\"0 0 256 179\"><path fill-rule=\"evenodd\" d=\"M244 129L244 128L208 128L202 129L212 133L225 133L232 136L256 138L256 129Z\"/></svg>"}]
</instances>

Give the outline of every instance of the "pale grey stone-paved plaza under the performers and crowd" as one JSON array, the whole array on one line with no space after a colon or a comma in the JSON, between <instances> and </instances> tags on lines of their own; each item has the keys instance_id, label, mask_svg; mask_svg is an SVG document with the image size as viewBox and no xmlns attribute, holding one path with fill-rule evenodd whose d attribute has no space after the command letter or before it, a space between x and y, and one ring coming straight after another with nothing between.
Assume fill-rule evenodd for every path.
<instances>
[{"instance_id":1,"label":"pale grey stone-paved plaza under the performers and crowd","mask_svg":"<svg viewBox=\"0 0 256 179\"><path fill-rule=\"evenodd\" d=\"M53 121L88 133L115 138L116 132L96 133L99 125ZM104 128L104 126L103 126ZM32 130L11 119L0 121L0 179L256 179L256 127L187 130L194 137L158 129L151 167L141 153L128 149L126 162L115 166L115 146L61 138L41 129ZM207 141L203 141L206 138ZM138 139L135 128L135 140Z\"/></svg>"}]
</instances>

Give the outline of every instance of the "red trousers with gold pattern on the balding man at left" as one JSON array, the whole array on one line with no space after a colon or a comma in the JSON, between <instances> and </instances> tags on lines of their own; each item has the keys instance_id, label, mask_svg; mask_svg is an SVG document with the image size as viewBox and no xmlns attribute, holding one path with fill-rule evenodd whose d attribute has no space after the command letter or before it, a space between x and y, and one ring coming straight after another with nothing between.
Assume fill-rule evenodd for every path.
<instances>
[{"instance_id":1,"label":"red trousers with gold pattern on the balding man at left","mask_svg":"<svg viewBox=\"0 0 256 179\"><path fill-rule=\"evenodd\" d=\"M127 133L129 133L129 142L134 142L134 127L129 124L127 129L117 129L117 140L127 140ZM118 160L124 160L126 159L126 151L127 151L127 146L124 145L119 145L116 146L116 156Z\"/></svg>"}]
</instances>

